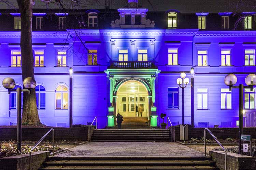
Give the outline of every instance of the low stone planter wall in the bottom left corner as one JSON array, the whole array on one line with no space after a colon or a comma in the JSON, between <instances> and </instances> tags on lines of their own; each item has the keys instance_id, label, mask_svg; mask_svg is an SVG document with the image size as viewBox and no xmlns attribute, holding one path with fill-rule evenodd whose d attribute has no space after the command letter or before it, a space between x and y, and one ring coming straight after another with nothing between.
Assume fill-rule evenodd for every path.
<instances>
[{"instance_id":1,"label":"low stone planter wall in the bottom left corner","mask_svg":"<svg viewBox=\"0 0 256 170\"><path fill-rule=\"evenodd\" d=\"M37 170L41 167L49 151L33 152L32 153L32 170ZM1 170L29 170L29 154L16 155L10 157L0 158Z\"/></svg>"}]
</instances>

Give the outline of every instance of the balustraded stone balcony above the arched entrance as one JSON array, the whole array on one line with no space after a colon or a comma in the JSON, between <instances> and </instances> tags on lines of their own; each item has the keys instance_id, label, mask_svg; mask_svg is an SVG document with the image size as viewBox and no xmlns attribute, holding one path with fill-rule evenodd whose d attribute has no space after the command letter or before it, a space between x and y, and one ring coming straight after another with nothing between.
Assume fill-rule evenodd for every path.
<instances>
[{"instance_id":1,"label":"balustraded stone balcony above the arched entrance","mask_svg":"<svg viewBox=\"0 0 256 170\"><path fill-rule=\"evenodd\" d=\"M156 69L155 61L110 61L109 69Z\"/></svg>"}]
</instances>

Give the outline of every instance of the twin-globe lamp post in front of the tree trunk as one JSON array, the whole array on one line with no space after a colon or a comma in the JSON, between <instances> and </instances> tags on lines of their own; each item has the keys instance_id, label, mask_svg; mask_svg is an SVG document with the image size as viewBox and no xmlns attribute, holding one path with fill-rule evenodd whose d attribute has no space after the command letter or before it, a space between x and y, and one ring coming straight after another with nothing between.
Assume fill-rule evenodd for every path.
<instances>
[{"instance_id":1,"label":"twin-globe lamp post in front of the tree trunk","mask_svg":"<svg viewBox=\"0 0 256 170\"><path fill-rule=\"evenodd\" d=\"M21 89L20 87L18 87L16 90L14 90L13 88L16 86L15 81L8 77L3 79L3 87L8 89L8 94L11 94L11 91L15 91L17 92L17 151L19 151L21 153L21 146L22 146L22 115L21 115L21 93L22 91L26 91L30 94L31 89L35 88L35 86L37 85L37 83L35 82L35 80L31 77L28 77L26 79L24 79L23 81L23 85L26 89Z\"/></svg>"}]
</instances>

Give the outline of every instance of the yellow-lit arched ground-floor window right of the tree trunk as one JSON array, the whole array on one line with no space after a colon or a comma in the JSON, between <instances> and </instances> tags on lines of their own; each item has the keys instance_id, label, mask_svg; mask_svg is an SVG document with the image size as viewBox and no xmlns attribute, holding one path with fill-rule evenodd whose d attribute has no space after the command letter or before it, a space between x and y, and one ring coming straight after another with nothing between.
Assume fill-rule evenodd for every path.
<instances>
[{"instance_id":1,"label":"yellow-lit arched ground-floor window right of the tree trunk","mask_svg":"<svg viewBox=\"0 0 256 170\"><path fill-rule=\"evenodd\" d=\"M59 85L55 90L55 109L68 109L68 88Z\"/></svg>"}]
</instances>

